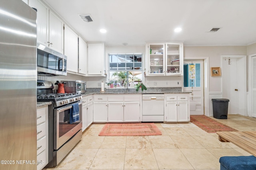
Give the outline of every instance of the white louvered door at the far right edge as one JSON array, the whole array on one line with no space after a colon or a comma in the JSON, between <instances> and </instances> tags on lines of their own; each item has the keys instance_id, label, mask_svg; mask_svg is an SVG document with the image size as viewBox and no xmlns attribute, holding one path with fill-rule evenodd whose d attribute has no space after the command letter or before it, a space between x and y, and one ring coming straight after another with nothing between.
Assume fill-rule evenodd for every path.
<instances>
[{"instance_id":1,"label":"white louvered door at the far right edge","mask_svg":"<svg viewBox=\"0 0 256 170\"><path fill-rule=\"evenodd\" d=\"M252 57L252 117L256 117L256 56Z\"/></svg>"}]
</instances>

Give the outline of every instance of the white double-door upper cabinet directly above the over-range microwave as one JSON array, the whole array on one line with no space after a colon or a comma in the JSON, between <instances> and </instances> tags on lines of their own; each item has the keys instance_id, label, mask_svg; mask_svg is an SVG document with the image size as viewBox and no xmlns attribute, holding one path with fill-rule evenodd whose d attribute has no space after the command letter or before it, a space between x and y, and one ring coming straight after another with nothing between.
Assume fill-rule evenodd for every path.
<instances>
[{"instance_id":1,"label":"white double-door upper cabinet directly above the over-range microwave","mask_svg":"<svg viewBox=\"0 0 256 170\"><path fill-rule=\"evenodd\" d=\"M63 54L63 21L40 0L29 0L37 9L37 41Z\"/></svg>"}]
</instances>

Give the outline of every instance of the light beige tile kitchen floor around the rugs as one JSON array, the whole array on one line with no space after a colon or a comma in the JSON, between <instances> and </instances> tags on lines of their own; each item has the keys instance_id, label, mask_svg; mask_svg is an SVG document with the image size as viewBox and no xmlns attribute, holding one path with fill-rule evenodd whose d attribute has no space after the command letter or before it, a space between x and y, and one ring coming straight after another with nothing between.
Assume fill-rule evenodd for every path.
<instances>
[{"instance_id":1,"label":"light beige tile kitchen floor around the rugs","mask_svg":"<svg viewBox=\"0 0 256 170\"><path fill-rule=\"evenodd\" d=\"M238 131L256 131L253 117L212 119ZM104 137L98 136L104 124L92 124L58 166L44 170L219 170L221 156L251 155L191 122L156 125L162 135Z\"/></svg>"}]
</instances>

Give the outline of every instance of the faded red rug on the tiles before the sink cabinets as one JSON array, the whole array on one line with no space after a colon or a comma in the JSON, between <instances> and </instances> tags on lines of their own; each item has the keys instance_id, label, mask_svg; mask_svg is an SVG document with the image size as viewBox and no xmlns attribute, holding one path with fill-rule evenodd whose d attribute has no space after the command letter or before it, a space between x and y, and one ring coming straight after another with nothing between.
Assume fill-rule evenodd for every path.
<instances>
[{"instance_id":1,"label":"faded red rug on the tiles before the sink cabinets","mask_svg":"<svg viewBox=\"0 0 256 170\"><path fill-rule=\"evenodd\" d=\"M106 123L99 136L162 135L154 123Z\"/></svg>"}]
</instances>

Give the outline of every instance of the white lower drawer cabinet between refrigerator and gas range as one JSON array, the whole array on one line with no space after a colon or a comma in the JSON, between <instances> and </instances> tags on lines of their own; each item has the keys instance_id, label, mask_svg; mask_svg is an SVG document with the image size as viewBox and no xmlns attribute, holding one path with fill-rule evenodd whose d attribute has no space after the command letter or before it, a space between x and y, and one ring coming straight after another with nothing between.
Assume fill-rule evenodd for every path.
<instances>
[{"instance_id":1,"label":"white lower drawer cabinet between refrigerator and gas range","mask_svg":"<svg viewBox=\"0 0 256 170\"><path fill-rule=\"evenodd\" d=\"M37 170L48 164L48 105L36 110Z\"/></svg>"}]
</instances>

